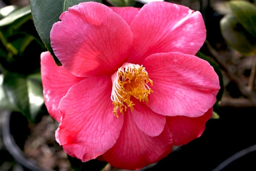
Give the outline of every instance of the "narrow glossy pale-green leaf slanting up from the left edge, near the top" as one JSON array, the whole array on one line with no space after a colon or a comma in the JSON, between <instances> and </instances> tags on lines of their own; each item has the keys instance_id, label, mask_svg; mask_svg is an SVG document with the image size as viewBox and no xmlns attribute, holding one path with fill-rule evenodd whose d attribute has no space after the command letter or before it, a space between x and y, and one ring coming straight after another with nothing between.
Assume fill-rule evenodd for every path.
<instances>
[{"instance_id":1,"label":"narrow glossy pale-green leaf slanting up from the left edge, near the top","mask_svg":"<svg viewBox=\"0 0 256 171\"><path fill-rule=\"evenodd\" d=\"M15 20L21 17L29 16L29 15L30 15L29 6L15 10L14 12L10 13L9 15L7 15L6 17L0 20L0 27L12 24Z\"/></svg>"}]
</instances>

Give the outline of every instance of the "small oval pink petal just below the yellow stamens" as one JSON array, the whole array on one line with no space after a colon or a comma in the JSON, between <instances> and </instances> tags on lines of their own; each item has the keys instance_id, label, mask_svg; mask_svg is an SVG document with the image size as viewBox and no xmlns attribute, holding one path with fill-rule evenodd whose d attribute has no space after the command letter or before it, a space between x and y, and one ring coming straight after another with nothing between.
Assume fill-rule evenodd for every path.
<instances>
[{"instance_id":1,"label":"small oval pink petal just below the yellow stamens","mask_svg":"<svg viewBox=\"0 0 256 171\"><path fill-rule=\"evenodd\" d=\"M136 100L132 114L138 128L145 134L155 137L163 132L166 117L153 112L139 100Z\"/></svg>"}]
</instances>

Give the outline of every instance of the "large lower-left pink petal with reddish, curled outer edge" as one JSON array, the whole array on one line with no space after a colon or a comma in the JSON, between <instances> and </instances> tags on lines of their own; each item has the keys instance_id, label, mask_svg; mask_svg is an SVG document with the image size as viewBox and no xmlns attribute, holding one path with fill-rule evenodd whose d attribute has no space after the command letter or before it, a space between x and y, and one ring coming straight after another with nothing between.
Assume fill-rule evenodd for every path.
<instances>
[{"instance_id":1,"label":"large lower-left pink petal with reddish, curled outer edge","mask_svg":"<svg viewBox=\"0 0 256 171\"><path fill-rule=\"evenodd\" d=\"M110 77L91 77L75 84L59 103L62 115L56 140L83 162L95 159L117 141L123 115L113 114Z\"/></svg>"}]
</instances>

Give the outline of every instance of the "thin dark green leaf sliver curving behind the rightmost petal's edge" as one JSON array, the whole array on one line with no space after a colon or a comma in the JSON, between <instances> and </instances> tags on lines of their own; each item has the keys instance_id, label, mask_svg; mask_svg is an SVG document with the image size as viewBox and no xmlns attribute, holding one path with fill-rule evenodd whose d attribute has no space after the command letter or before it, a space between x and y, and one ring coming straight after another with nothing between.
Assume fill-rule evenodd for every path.
<instances>
[{"instance_id":1,"label":"thin dark green leaf sliver curving behind the rightmost petal's edge","mask_svg":"<svg viewBox=\"0 0 256 171\"><path fill-rule=\"evenodd\" d=\"M211 60L209 57L207 57L206 55L204 55L201 52L198 52L197 56L200 57L201 59L204 59L204 60L208 61L210 63L210 65L214 68L214 71L219 76L219 82L220 82L221 89L219 90L219 92L218 92L218 94L216 96L217 100L216 100L216 103L214 105L214 109L218 109L219 108L218 103L221 100L223 92L224 92L223 75L221 73L220 67L218 66L218 64L216 62L214 62L213 60Z\"/></svg>"}]
</instances>

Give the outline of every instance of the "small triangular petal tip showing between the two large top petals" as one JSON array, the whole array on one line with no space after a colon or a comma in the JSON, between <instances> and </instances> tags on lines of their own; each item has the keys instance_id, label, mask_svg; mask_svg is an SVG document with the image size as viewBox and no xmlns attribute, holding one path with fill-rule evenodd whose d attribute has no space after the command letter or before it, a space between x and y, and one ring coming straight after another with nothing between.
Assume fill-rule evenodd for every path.
<instances>
[{"instance_id":1,"label":"small triangular petal tip showing between the two large top petals","mask_svg":"<svg viewBox=\"0 0 256 171\"><path fill-rule=\"evenodd\" d=\"M110 7L115 13L120 15L127 24L131 24L134 17L138 14L139 8L134 7Z\"/></svg>"}]
</instances>

